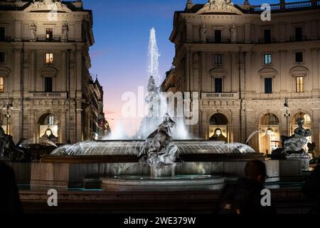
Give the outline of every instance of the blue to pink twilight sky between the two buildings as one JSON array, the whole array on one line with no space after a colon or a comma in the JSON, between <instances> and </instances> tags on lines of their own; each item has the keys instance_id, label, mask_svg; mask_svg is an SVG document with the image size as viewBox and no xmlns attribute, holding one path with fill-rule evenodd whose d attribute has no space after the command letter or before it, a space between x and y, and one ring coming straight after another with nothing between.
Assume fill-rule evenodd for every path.
<instances>
[{"instance_id":1,"label":"blue to pink twilight sky between the two buildings","mask_svg":"<svg viewBox=\"0 0 320 228\"><path fill-rule=\"evenodd\" d=\"M291 0L294 1L294 0ZM299 0L298 0L299 1ZM105 91L105 114L117 131L119 121L128 135L139 128L139 118L122 117L122 94L137 94L138 86L148 82L149 31L156 29L161 57L159 72L164 76L171 68L174 45L169 41L174 11L183 10L186 0L84 0L85 9L93 11L95 45L90 48L92 75L97 74ZM207 0L193 0L203 4ZM250 4L274 4L277 0L255 0ZM242 4L243 0L234 0Z\"/></svg>"}]
</instances>

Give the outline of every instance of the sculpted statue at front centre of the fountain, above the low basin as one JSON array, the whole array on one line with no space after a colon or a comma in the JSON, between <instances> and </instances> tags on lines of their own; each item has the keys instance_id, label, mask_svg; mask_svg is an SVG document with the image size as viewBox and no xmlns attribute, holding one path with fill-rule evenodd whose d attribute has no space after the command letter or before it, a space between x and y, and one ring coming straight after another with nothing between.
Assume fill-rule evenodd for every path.
<instances>
[{"instance_id":1,"label":"sculpted statue at front centre of the fountain, above the low basin","mask_svg":"<svg viewBox=\"0 0 320 228\"><path fill-rule=\"evenodd\" d=\"M140 162L143 165L173 165L178 159L178 147L171 137L171 128L176 123L166 114L164 122L144 142L138 157L144 155Z\"/></svg>"}]
</instances>

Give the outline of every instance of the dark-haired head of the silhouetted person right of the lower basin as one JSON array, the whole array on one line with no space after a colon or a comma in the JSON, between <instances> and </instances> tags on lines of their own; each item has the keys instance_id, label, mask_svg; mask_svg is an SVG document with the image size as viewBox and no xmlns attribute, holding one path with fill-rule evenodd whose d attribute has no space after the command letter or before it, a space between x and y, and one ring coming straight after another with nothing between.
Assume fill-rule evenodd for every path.
<instances>
[{"instance_id":1,"label":"dark-haired head of the silhouetted person right of the lower basin","mask_svg":"<svg viewBox=\"0 0 320 228\"><path fill-rule=\"evenodd\" d=\"M247 162L247 165L245 165L245 177L250 180L264 183L265 178L267 177L265 163L260 160Z\"/></svg>"}]
</instances>

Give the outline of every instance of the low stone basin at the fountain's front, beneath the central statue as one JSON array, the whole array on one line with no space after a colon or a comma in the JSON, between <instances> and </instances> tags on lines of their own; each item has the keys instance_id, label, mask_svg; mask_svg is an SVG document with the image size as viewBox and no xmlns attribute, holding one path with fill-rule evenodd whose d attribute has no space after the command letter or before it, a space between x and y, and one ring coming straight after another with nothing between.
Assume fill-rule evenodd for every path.
<instances>
[{"instance_id":1,"label":"low stone basin at the fountain's front, beneath the central statue","mask_svg":"<svg viewBox=\"0 0 320 228\"><path fill-rule=\"evenodd\" d=\"M102 179L108 192L183 192L220 190L225 177L211 175L176 175L174 177L114 176Z\"/></svg>"}]
</instances>

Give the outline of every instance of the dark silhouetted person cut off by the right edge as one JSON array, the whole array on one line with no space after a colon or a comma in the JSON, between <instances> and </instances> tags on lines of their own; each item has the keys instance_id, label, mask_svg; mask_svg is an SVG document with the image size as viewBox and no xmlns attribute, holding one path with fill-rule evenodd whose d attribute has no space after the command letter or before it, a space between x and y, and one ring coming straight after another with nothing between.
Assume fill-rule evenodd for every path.
<instances>
[{"instance_id":1,"label":"dark silhouetted person cut off by the right edge","mask_svg":"<svg viewBox=\"0 0 320 228\"><path fill-rule=\"evenodd\" d=\"M306 178L302 192L311 202L316 203L310 214L320 214L320 165L316 166L311 175Z\"/></svg>"}]
</instances>

